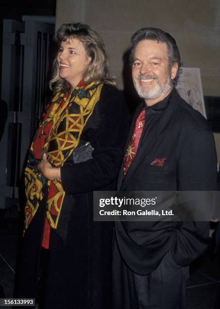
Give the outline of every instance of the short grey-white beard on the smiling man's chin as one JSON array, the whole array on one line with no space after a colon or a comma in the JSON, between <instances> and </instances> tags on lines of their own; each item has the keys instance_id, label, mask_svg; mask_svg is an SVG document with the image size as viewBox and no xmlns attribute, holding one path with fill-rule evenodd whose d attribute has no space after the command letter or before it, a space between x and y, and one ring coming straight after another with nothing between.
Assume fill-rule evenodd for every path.
<instances>
[{"instance_id":1,"label":"short grey-white beard on the smiling man's chin","mask_svg":"<svg viewBox=\"0 0 220 309\"><path fill-rule=\"evenodd\" d=\"M146 90L144 88L139 87L136 80L134 81L134 86L135 86L135 89L136 89L138 95L140 97L144 98L144 99L155 99L155 98L159 97L160 95L168 92L172 88L171 87L171 81L169 80L169 78L167 80L167 83L163 86L157 80L156 85L149 90Z\"/></svg>"}]
</instances>

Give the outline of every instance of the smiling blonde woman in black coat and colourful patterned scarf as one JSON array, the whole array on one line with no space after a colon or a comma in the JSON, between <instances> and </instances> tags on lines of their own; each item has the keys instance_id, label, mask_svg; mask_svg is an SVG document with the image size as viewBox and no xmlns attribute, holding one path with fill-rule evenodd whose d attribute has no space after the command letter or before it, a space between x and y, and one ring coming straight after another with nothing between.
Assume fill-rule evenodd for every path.
<instances>
[{"instance_id":1,"label":"smiling blonde woman in black coat and colourful patterned scarf","mask_svg":"<svg viewBox=\"0 0 220 309\"><path fill-rule=\"evenodd\" d=\"M64 24L25 170L17 297L43 308L111 308L112 222L93 222L93 190L116 190L127 117L99 35Z\"/></svg>"}]
</instances>

